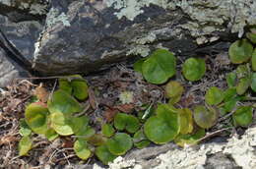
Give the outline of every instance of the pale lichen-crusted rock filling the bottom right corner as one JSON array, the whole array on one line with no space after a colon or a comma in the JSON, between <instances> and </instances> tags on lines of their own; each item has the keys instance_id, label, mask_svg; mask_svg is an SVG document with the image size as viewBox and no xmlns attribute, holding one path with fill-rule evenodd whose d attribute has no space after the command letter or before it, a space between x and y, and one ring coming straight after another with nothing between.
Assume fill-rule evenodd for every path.
<instances>
[{"instance_id":1,"label":"pale lichen-crusted rock filling the bottom right corner","mask_svg":"<svg viewBox=\"0 0 256 169\"><path fill-rule=\"evenodd\" d=\"M109 163L110 169L252 169L256 168L256 127L248 129L241 139L234 136L227 142L203 143L178 148L172 143L164 147L135 150ZM136 152L137 151L137 152ZM146 151L148 151L149 155ZM86 167L86 166L85 166ZM89 166L87 166L89 167ZM103 167L94 165L94 169Z\"/></svg>"}]
</instances>

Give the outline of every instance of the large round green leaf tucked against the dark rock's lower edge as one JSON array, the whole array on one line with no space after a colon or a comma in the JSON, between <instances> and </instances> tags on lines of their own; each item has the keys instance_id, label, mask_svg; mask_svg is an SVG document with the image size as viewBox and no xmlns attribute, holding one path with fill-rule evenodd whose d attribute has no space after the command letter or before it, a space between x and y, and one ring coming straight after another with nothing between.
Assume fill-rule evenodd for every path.
<instances>
[{"instance_id":1,"label":"large round green leaf tucked against the dark rock's lower edge","mask_svg":"<svg viewBox=\"0 0 256 169\"><path fill-rule=\"evenodd\" d=\"M165 50L156 50L142 65L144 78L152 84L163 84L175 75L176 58Z\"/></svg>"}]
</instances>

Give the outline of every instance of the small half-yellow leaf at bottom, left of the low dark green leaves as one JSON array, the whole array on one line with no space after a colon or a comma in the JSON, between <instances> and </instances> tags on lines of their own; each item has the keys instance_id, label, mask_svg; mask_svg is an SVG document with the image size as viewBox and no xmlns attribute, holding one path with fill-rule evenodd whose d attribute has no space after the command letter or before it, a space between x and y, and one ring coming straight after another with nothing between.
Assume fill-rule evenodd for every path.
<instances>
[{"instance_id":1,"label":"small half-yellow leaf at bottom, left of the low dark green leaves","mask_svg":"<svg viewBox=\"0 0 256 169\"><path fill-rule=\"evenodd\" d=\"M92 154L91 150L88 148L87 141L83 140L75 141L74 151L76 152L76 155L83 160L88 159Z\"/></svg>"}]
</instances>

